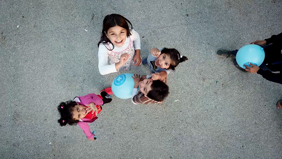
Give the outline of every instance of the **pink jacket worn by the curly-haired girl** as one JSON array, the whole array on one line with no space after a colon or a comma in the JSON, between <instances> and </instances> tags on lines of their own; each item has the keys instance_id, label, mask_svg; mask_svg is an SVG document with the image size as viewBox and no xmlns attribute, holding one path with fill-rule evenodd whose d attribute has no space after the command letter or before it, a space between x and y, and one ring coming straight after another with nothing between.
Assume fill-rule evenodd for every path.
<instances>
[{"instance_id":1,"label":"pink jacket worn by the curly-haired girl","mask_svg":"<svg viewBox=\"0 0 282 159\"><path fill-rule=\"evenodd\" d=\"M80 105L87 105L93 102L95 105L102 105L103 100L98 97L98 95L95 95L94 93L85 95L83 97L75 97L73 101L77 102ZM83 130L85 135L87 136L88 139L94 138L94 135L90 131L90 128L88 124L91 122L94 122L98 117L94 117L93 119L87 119L87 118L82 118L78 122L78 126Z\"/></svg>"}]
</instances>

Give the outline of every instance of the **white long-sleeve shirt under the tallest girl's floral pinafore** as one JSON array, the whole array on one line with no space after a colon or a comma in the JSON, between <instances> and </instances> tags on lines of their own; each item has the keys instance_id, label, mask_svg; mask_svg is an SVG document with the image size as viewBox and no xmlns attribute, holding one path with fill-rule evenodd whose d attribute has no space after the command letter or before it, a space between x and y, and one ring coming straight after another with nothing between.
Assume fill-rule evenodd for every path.
<instances>
[{"instance_id":1,"label":"white long-sleeve shirt under the tallest girl's floral pinafore","mask_svg":"<svg viewBox=\"0 0 282 159\"><path fill-rule=\"evenodd\" d=\"M135 30L132 29L132 31L130 32L130 39L133 41L133 45L135 50L140 49L141 48L141 44L140 44L140 36L137 32L135 32ZM126 40L124 42L124 44L122 45L122 47L117 47L115 46L113 49L112 44L110 44L110 48L108 48L108 45L104 45L104 44L100 44L99 45L99 51L98 51L98 58L99 58L99 72L102 75L105 74L109 74L112 72L118 72L117 69L115 69L115 64L110 64L108 65L108 57L109 54L111 53L111 51L113 52L121 52L123 50L125 50L129 43L130 43L130 39L129 37L126 37ZM108 50L108 49L113 49L113 50ZM120 58L120 57L116 57L116 58Z\"/></svg>"}]
</instances>

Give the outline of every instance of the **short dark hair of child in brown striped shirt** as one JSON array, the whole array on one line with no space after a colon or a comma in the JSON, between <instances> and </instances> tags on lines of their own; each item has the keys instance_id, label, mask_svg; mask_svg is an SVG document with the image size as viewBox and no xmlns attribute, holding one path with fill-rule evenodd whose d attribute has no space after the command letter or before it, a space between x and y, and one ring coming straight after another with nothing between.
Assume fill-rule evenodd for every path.
<instances>
[{"instance_id":1,"label":"short dark hair of child in brown striped shirt","mask_svg":"<svg viewBox=\"0 0 282 159\"><path fill-rule=\"evenodd\" d=\"M160 80L153 81L151 88L152 90L148 92L147 97L158 102L162 102L169 93L168 86Z\"/></svg>"}]
</instances>

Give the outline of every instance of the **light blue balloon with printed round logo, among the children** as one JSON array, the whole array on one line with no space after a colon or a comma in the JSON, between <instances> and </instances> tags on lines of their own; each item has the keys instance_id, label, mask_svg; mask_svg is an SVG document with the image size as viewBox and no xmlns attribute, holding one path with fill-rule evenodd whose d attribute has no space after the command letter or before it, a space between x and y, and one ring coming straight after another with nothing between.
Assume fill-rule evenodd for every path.
<instances>
[{"instance_id":1,"label":"light blue balloon with printed round logo, among the children","mask_svg":"<svg viewBox=\"0 0 282 159\"><path fill-rule=\"evenodd\" d=\"M134 80L131 76L133 76L132 73L124 73L115 78L112 83L112 91L115 96L121 99L131 98L134 88Z\"/></svg>"}]
</instances>

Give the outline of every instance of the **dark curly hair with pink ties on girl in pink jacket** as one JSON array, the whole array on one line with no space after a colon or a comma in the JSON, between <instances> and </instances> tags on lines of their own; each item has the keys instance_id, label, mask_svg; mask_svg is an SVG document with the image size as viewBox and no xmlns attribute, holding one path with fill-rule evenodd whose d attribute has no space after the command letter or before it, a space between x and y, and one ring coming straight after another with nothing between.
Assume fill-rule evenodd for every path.
<instances>
[{"instance_id":1,"label":"dark curly hair with pink ties on girl in pink jacket","mask_svg":"<svg viewBox=\"0 0 282 159\"><path fill-rule=\"evenodd\" d=\"M61 102L61 104L58 106L58 111L61 114L61 118L58 120L61 126L65 126L67 124L74 125L75 123L78 123L79 120L73 120L73 108L77 105L74 101L67 101L67 102Z\"/></svg>"}]
</instances>

